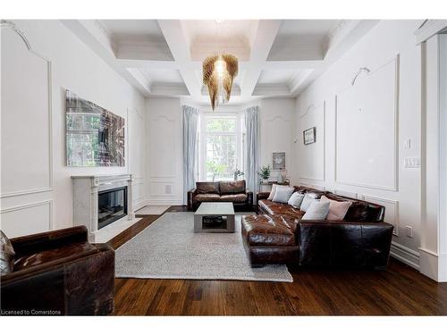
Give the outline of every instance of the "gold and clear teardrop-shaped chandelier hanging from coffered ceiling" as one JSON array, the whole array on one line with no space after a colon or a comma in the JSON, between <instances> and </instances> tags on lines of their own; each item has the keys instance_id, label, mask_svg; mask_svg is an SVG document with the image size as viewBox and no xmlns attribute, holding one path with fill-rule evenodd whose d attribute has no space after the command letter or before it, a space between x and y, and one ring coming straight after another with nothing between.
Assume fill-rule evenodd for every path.
<instances>
[{"instance_id":1,"label":"gold and clear teardrop-shaped chandelier hanging from coffered ceiling","mask_svg":"<svg viewBox=\"0 0 447 335\"><path fill-rule=\"evenodd\" d=\"M232 54L209 56L203 61L203 83L207 85L211 107L227 103L232 94L232 80L238 74L238 59Z\"/></svg>"}]
</instances>

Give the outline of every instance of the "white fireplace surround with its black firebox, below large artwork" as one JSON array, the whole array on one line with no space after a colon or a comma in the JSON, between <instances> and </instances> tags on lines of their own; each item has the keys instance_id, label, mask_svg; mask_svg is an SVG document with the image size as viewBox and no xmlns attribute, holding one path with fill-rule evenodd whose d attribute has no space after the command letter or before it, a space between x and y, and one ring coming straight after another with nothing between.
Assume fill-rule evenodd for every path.
<instances>
[{"instance_id":1,"label":"white fireplace surround with its black firebox, below large artwork","mask_svg":"<svg viewBox=\"0 0 447 335\"><path fill-rule=\"evenodd\" d=\"M99 230L135 218L132 175L72 176L73 224L85 225L94 241Z\"/></svg>"}]
</instances>

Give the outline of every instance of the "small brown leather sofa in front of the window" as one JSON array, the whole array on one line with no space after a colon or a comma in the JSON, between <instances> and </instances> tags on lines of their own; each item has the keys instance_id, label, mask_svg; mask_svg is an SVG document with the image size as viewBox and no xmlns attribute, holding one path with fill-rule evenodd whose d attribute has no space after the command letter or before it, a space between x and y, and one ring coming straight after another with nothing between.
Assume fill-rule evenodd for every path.
<instances>
[{"instance_id":1,"label":"small brown leather sofa in front of the window","mask_svg":"<svg viewBox=\"0 0 447 335\"><path fill-rule=\"evenodd\" d=\"M253 210L253 192L246 189L245 180L198 181L188 192L188 209L195 211L202 202L232 202L235 210Z\"/></svg>"}]
</instances>

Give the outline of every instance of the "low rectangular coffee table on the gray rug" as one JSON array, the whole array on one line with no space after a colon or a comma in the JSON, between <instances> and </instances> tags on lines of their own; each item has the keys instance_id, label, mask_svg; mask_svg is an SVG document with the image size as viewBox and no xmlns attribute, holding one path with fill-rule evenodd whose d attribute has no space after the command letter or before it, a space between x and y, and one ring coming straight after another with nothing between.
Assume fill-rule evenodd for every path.
<instances>
[{"instance_id":1,"label":"low rectangular coffee table on the gray rug","mask_svg":"<svg viewBox=\"0 0 447 335\"><path fill-rule=\"evenodd\" d=\"M194 213L194 232L234 232L232 203L202 203Z\"/></svg>"}]
</instances>

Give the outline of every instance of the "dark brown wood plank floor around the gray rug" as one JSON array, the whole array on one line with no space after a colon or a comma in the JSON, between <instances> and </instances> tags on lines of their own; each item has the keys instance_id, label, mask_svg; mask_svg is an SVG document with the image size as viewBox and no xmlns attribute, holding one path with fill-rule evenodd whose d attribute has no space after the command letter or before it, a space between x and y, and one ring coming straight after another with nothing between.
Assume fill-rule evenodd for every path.
<instances>
[{"instance_id":1,"label":"dark brown wood plank floor around the gray rug","mask_svg":"<svg viewBox=\"0 0 447 335\"><path fill-rule=\"evenodd\" d=\"M168 211L184 210L173 206ZM159 216L144 215L109 244L121 246ZM447 314L447 283L438 284L394 259L382 272L289 271L292 283L116 279L114 314Z\"/></svg>"}]
</instances>

